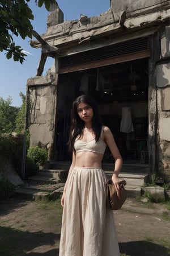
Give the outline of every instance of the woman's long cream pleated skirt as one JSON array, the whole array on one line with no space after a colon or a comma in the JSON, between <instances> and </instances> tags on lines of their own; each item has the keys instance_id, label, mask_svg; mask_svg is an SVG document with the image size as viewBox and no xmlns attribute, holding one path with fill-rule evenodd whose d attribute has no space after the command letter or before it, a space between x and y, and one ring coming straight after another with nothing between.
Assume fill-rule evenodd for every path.
<instances>
[{"instance_id":1,"label":"woman's long cream pleated skirt","mask_svg":"<svg viewBox=\"0 0 170 256\"><path fill-rule=\"evenodd\" d=\"M59 256L119 256L101 168L75 167L67 181Z\"/></svg>"}]
</instances>

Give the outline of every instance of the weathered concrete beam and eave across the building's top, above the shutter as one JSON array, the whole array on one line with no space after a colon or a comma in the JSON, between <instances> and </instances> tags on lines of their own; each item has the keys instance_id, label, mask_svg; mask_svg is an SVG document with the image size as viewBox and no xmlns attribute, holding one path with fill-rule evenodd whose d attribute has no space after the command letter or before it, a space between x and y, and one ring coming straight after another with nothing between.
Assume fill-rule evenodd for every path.
<instances>
[{"instance_id":1,"label":"weathered concrete beam and eave across the building's top, above the shutter","mask_svg":"<svg viewBox=\"0 0 170 256\"><path fill-rule=\"evenodd\" d=\"M41 36L50 46L58 47L58 57L62 57L136 37L133 30L137 32L146 27L145 35L153 34L154 27L170 16L169 1L153 1L112 0L112 8L99 16L80 15L79 19L62 23L58 20L55 24L50 19L45 34ZM126 6L129 9L126 10ZM31 40L30 44L35 48L41 47L36 40Z\"/></svg>"}]
</instances>

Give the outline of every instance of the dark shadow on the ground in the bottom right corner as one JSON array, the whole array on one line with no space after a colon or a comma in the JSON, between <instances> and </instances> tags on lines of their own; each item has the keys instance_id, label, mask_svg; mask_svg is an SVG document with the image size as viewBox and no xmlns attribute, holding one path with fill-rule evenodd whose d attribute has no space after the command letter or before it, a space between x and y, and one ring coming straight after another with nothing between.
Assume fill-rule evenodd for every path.
<instances>
[{"instance_id":1,"label":"dark shadow on the ground in the bottom right corner","mask_svg":"<svg viewBox=\"0 0 170 256\"><path fill-rule=\"evenodd\" d=\"M128 256L169 256L168 248L147 241L119 243L119 247Z\"/></svg>"}]
</instances>

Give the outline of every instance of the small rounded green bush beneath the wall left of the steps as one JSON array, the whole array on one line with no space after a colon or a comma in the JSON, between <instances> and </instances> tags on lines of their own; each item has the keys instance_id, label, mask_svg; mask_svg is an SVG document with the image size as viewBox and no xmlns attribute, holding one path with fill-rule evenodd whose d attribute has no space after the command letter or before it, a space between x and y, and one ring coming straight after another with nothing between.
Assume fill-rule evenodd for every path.
<instances>
[{"instance_id":1,"label":"small rounded green bush beneath the wall left of the steps","mask_svg":"<svg viewBox=\"0 0 170 256\"><path fill-rule=\"evenodd\" d=\"M31 147L27 152L27 156L35 161L37 166L43 166L48 159L48 150L45 147Z\"/></svg>"}]
</instances>

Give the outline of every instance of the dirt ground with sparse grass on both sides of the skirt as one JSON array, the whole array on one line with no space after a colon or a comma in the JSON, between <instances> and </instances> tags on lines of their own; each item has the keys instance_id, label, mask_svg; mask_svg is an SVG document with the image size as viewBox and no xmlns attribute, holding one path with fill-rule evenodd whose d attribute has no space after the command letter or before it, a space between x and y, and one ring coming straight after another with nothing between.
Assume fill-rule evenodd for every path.
<instances>
[{"instance_id":1,"label":"dirt ground with sparse grass on both sides of the skirt","mask_svg":"<svg viewBox=\"0 0 170 256\"><path fill-rule=\"evenodd\" d=\"M170 255L170 215L161 204L127 200L114 211L121 255ZM57 256L62 208L56 202L0 202L1 256ZM94 255L97 256L97 255ZM107 256L107 253L103 256Z\"/></svg>"}]
</instances>

